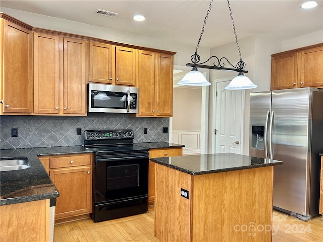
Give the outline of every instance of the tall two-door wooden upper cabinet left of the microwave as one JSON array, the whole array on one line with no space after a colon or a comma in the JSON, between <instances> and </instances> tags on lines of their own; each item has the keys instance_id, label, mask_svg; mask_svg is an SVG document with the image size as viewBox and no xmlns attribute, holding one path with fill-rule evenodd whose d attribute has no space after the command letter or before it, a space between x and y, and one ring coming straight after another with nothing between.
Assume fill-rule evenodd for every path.
<instances>
[{"instance_id":1,"label":"tall two-door wooden upper cabinet left of the microwave","mask_svg":"<svg viewBox=\"0 0 323 242\"><path fill-rule=\"evenodd\" d=\"M34 113L86 115L86 41L34 32Z\"/></svg>"}]
</instances>

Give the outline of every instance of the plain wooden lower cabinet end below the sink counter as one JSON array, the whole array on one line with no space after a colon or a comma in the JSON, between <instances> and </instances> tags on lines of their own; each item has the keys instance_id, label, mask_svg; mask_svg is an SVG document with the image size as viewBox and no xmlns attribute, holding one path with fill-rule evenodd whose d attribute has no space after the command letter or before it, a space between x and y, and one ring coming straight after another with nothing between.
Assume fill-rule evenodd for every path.
<instances>
[{"instance_id":1,"label":"plain wooden lower cabinet end below the sink counter","mask_svg":"<svg viewBox=\"0 0 323 242\"><path fill-rule=\"evenodd\" d=\"M49 241L49 199L0 206L0 241Z\"/></svg>"}]
</instances>

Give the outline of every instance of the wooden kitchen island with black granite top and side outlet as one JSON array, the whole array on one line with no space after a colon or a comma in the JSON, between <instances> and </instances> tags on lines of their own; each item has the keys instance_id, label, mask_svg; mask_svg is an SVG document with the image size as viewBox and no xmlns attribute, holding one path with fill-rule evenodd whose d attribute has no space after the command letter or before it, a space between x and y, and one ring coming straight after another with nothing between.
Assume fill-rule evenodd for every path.
<instances>
[{"instance_id":1,"label":"wooden kitchen island with black granite top and side outlet","mask_svg":"<svg viewBox=\"0 0 323 242\"><path fill-rule=\"evenodd\" d=\"M283 162L231 153L151 161L160 242L271 241L273 166Z\"/></svg>"}]
</instances>

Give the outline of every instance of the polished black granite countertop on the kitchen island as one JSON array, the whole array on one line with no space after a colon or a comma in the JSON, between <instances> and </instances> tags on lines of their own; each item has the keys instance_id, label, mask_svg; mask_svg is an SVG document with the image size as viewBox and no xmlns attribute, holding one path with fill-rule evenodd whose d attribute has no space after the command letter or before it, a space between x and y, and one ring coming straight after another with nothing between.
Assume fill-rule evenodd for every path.
<instances>
[{"instance_id":1,"label":"polished black granite countertop on the kitchen island","mask_svg":"<svg viewBox=\"0 0 323 242\"><path fill-rule=\"evenodd\" d=\"M151 161L190 175L203 175L283 164L282 161L232 153L151 158Z\"/></svg>"}]
</instances>

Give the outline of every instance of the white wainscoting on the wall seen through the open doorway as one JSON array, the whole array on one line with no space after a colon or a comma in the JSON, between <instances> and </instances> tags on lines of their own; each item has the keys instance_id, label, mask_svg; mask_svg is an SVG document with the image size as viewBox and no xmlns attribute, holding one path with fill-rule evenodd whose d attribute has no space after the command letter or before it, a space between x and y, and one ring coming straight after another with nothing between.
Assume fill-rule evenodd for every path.
<instances>
[{"instance_id":1,"label":"white wainscoting on the wall seen through the open doorway","mask_svg":"<svg viewBox=\"0 0 323 242\"><path fill-rule=\"evenodd\" d=\"M173 130L172 143L185 145L183 155L200 154L201 130Z\"/></svg>"}]
</instances>

